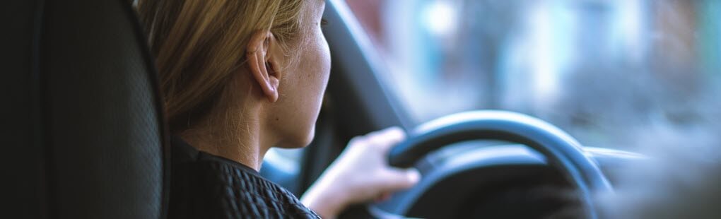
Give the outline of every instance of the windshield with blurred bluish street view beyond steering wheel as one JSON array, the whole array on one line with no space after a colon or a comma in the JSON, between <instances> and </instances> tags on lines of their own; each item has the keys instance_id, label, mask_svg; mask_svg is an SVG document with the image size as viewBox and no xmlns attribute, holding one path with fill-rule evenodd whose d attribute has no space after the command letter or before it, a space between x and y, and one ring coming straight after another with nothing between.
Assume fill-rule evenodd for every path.
<instances>
[{"instance_id":1,"label":"windshield with blurred bluish street view beyond steering wheel","mask_svg":"<svg viewBox=\"0 0 721 219\"><path fill-rule=\"evenodd\" d=\"M721 1L347 2L415 124L510 110L602 147L717 131Z\"/></svg>"}]
</instances>

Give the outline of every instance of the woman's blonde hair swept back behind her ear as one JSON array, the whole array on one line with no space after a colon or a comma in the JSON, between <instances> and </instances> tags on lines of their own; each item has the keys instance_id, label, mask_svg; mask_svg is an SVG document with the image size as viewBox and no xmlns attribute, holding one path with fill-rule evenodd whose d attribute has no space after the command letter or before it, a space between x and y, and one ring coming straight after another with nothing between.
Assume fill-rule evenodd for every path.
<instances>
[{"instance_id":1,"label":"woman's blonde hair swept back behind her ear","mask_svg":"<svg viewBox=\"0 0 721 219\"><path fill-rule=\"evenodd\" d=\"M138 0L156 57L172 133L190 128L218 103L246 61L249 38L270 30L286 51L297 40L304 0Z\"/></svg>"}]
</instances>

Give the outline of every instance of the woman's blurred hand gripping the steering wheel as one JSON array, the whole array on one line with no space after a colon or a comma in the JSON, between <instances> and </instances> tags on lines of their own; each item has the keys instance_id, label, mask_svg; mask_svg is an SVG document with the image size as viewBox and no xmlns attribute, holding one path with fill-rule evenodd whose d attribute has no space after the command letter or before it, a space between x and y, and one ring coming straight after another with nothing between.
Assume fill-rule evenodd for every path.
<instances>
[{"instance_id":1,"label":"woman's blurred hand gripping the steering wheel","mask_svg":"<svg viewBox=\"0 0 721 219\"><path fill-rule=\"evenodd\" d=\"M348 205L384 199L412 187L420 179L418 171L397 169L386 161L390 148L404 139L404 131L397 127L353 138L301 202L323 218L335 218Z\"/></svg>"}]
</instances>

